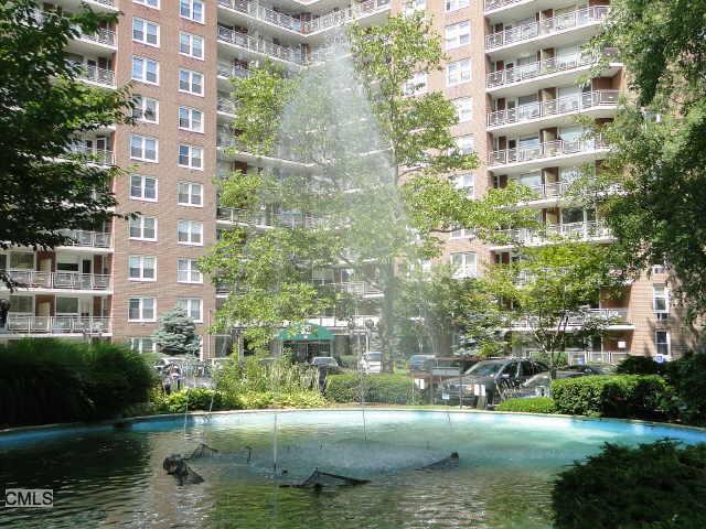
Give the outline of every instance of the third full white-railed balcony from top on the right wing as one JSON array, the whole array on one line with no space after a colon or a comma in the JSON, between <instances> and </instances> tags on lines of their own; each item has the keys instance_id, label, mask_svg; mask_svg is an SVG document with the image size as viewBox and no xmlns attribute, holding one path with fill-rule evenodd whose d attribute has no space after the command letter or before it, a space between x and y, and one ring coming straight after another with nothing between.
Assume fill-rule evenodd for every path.
<instances>
[{"instance_id":1,"label":"third full white-railed balcony from top on the right wing","mask_svg":"<svg viewBox=\"0 0 706 529\"><path fill-rule=\"evenodd\" d=\"M600 109L607 111L606 116L598 115L596 117L609 117L612 116L618 108L619 96L620 93L618 90L595 90L577 96L560 97L547 101L521 105L506 110L498 110L488 115L488 128L492 129L492 131L510 128L515 130L515 127L522 123L536 123L537 121L542 121L542 123L545 125L545 121L557 118L556 120L552 120L552 123L546 125L555 126L561 121L566 121L561 118L566 118L567 116ZM554 121L557 122L555 123Z\"/></svg>"}]
</instances>

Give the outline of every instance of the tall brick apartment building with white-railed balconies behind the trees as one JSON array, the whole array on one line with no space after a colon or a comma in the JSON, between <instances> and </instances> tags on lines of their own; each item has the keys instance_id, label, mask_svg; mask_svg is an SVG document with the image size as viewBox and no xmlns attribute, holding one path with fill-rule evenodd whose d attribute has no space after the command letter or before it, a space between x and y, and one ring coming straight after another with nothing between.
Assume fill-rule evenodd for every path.
<instances>
[{"instance_id":1,"label":"tall brick apartment building with white-railed balconies behind the trees","mask_svg":"<svg viewBox=\"0 0 706 529\"><path fill-rule=\"evenodd\" d=\"M297 170L286 152L254 156L238 152L227 130L236 109L231 77L274 61L306 67L341 24L382 23L391 13L425 10L442 36L448 62L441 72L415 78L421 90L441 90L458 109L453 136L460 149L478 153L480 166L456 181L469 196L515 181L532 187L537 218L555 235L610 244L596 212L570 205L565 192L586 166L601 170L608 153L576 117L610 120L625 90L618 63L591 74L597 57L582 50L609 13L608 0L84 0L97 11L119 13L118 23L68 44L84 66L84 80L101 89L127 83L139 95L135 126L115 126L77 138L74 148L95 163L117 164L119 213L139 216L73 234L77 242L51 252L11 249L0 268L28 289L0 298L10 314L0 341L21 336L87 337L130 342L153 350L157 319L180 305L197 322L202 355L227 354L231 336L208 336L217 304L227 294L195 267L217 231L244 220L243 212L218 207L214 177L234 170ZM78 9L78 0L52 0L43 9ZM252 218L248 220L253 220ZM258 226L311 219L263 214ZM514 230L527 245L548 244L538 234ZM449 235L442 259L459 277L483 272L489 262L510 262L512 247L488 247L464 229ZM315 281L335 283L374 303L379 292L351 281L345 270L322 271ZM374 306L371 304L371 306ZM593 309L616 325L609 337L578 345L586 360L617 361L627 354L678 355L689 333L670 300L665 270L625 285L620 300ZM372 312L372 311L371 311ZM360 316L364 330L375 315ZM312 319L333 335L350 333L335 314ZM526 330L525 330L526 331ZM518 323L513 332L522 333ZM364 332L365 334L366 332ZM587 350L588 349L588 350ZM522 346L518 354L530 354Z\"/></svg>"}]
</instances>

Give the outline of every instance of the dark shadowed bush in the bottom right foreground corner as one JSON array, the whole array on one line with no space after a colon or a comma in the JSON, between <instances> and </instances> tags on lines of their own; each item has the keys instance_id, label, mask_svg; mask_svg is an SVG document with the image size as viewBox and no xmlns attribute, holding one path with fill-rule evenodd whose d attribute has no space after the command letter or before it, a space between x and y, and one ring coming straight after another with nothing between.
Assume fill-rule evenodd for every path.
<instances>
[{"instance_id":1,"label":"dark shadowed bush in the bottom right foreground corner","mask_svg":"<svg viewBox=\"0 0 706 529\"><path fill-rule=\"evenodd\" d=\"M564 471L552 495L557 529L706 527L706 444L607 444Z\"/></svg>"}]
</instances>

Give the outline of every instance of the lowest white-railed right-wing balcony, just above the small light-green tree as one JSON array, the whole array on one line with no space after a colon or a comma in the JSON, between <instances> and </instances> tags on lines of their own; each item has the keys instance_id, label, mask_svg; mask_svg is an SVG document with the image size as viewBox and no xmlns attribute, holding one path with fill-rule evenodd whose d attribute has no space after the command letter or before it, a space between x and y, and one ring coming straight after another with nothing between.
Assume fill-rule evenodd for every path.
<instances>
[{"instance_id":1,"label":"lowest white-railed right-wing balcony, just above the small light-green tree","mask_svg":"<svg viewBox=\"0 0 706 529\"><path fill-rule=\"evenodd\" d=\"M559 239L582 241L608 241L612 238L610 228L602 220L582 223L549 224L541 230L528 228L501 229L496 234L507 238L507 244L494 244L491 249L512 248L513 246L543 246Z\"/></svg>"}]
</instances>

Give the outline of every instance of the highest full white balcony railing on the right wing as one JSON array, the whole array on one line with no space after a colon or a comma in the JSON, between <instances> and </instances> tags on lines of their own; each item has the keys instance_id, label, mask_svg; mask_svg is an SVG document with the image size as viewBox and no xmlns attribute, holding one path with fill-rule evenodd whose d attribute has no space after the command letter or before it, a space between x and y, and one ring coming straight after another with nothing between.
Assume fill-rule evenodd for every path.
<instances>
[{"instance_id":1,"label":"highest full white balcony railing on the right wing","mask_svg":"<svg viewBox=\"0 0 706 529\"><path fill-rule=\"evenodd\" d=\"M491 33L485 36L485 50L490 51L515 42L528 41L537 36L550 35L552 33L601 22L608 17L609 9L608 6L593 6L544 19L539 22L531 22Z\"/></svg>"}]
</instances>

